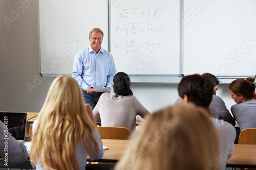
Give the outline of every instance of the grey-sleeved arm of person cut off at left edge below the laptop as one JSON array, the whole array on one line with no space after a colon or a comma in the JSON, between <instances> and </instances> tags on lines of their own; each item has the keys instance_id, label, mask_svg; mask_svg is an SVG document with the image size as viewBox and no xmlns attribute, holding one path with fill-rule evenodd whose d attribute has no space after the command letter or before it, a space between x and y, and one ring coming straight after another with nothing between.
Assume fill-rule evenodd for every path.
<instances>
[{"instance_id":1,"label":"grey-sleeved arm of person cut off at left edge below the laptop","mask_svg":"<svg viewBox=\"0 0 256 170\"><path fill-rule=\"evenodd\" d=\"M0 134L1 134L0 156L4 158L4 160L7 157L7 160L8 160L7 164L8 162L21 163L28 160L28 152L25 145L22 142L16 140L11 135L11 133L8 132L8 128L6 128L6 126L1 120L0 120Z\"/></svg>"}]
</instances>

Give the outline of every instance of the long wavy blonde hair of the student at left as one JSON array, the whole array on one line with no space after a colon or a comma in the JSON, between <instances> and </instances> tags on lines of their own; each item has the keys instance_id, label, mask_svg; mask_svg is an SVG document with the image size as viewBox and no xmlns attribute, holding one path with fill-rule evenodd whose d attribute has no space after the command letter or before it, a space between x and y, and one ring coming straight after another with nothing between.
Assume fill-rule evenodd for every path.
<instances>
[{"instance_id":1,"label":"long wavy blonde hair of the student at left","mask_svg":"<svg viewBox=\"0 0 256 170\"><path fill-rule=\"evenodd\" d=\"M87 113L80 87L72 77L62 75L53 81L34 128L30 152L33 166L79 169L75 151L81 141L90 157L99 152L95 125ZM88 136L92 138L94 150Z\"/></svg>"}]
</instances>

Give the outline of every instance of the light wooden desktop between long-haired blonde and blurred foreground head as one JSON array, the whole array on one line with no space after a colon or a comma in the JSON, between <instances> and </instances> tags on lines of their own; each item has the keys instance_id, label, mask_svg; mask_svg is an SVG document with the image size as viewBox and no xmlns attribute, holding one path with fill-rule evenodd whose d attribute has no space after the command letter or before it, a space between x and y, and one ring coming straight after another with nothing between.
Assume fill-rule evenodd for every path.
<instances>
[{"instance_id":1,"label":"light wooden desktop between long-haired blonde and blurred foreground head","mask_svg":"<svg viewBox=\"0 0 256 170\"><path fill-rule=\"evenodd\" d=\"M108 150L105 150L104 155L97 162L117 162L123 155L128 143L130 140L114 140L114 139L101 139L105 147L108 147ZM89 157L87 161L92 161Z\"/></svg>"}]
</instances>

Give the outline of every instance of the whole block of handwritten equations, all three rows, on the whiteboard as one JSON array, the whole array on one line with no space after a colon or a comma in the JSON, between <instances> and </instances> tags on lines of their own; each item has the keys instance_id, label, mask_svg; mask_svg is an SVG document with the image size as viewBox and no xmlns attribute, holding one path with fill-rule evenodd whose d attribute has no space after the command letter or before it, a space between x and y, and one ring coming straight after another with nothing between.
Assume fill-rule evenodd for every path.
<instances>
[{"instance_id":1,"label":"whole block of handwritten equations, all three rows, on the whiteboard","mask_svg":"<svg viewBox=\"0 0 256 170\"><path fill-rule=\"evenodd\" d=\"M129 8L118 10L113 17L113 50L125 54L156 55L166 48L169 25L164 8Z\"/></svg>"}]
</instances>

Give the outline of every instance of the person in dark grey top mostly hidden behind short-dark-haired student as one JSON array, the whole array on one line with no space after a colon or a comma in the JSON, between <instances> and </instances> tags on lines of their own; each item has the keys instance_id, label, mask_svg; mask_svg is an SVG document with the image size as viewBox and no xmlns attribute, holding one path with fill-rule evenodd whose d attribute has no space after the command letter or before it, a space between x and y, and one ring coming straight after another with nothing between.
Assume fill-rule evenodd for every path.
<instances>
[{"instance_id":1,"label":"person in dark grey top mostly hidden behind short-dark-haired student","mask_svg":"<svg viewBox=\"0 0 256 170\"><path fill-rule=\"evenodd\" d=\"M205 72L202 76L206 77L214 86L214 90L212 92L214 95L212 95L212 100L209 106L212 110L212 118L223 119L226 122L235 126L236 122L234 121L232 115L229 113L224 101L216 95L216 91L218 90L218 85L220 83L219 79L216 76L210 74L209 72ZM179 104L180 100L181 99L179 97L175 103Z\"/></svg>"}]
</instances>

